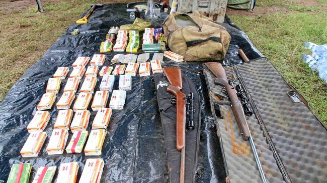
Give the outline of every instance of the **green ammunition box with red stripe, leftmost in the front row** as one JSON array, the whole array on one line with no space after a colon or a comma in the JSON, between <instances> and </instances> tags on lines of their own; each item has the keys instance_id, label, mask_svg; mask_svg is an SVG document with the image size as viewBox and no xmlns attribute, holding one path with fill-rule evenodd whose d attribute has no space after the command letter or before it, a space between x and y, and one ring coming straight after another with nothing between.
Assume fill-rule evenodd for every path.
<instances>
[{"instance_id":1,"label":"green ammunition box with red stripe, leftmost in the front row","mask_svg":"<svg viewBox=\"0 0 327 183\"><path fill-rule=\"evenodd\" d=\"M28 183L31 170L31 163L13 164L10 169L7 183Z\"/></svg>"}]
</instances>

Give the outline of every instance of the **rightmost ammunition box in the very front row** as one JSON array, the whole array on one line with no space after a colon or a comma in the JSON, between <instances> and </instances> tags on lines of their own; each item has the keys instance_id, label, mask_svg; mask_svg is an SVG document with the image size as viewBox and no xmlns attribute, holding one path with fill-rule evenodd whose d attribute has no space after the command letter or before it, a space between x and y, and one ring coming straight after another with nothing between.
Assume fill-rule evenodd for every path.
<instances>
[{"instance_id":1,"label":"rightmost ammunition box in the very front row","mask_svg":"<svg viewBox=\"0 0 327 183\"><path fill-rule=\"evenodd\" d=\"M79 183L100 183L105 162L103 159L87 159Z\"/></svg>"}]
</instances>

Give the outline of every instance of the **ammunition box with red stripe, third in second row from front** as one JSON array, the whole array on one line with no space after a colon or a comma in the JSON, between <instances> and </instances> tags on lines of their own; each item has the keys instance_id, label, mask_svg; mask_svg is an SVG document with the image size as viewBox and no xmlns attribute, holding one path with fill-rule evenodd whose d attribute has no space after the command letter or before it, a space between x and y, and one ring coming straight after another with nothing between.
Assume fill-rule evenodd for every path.
<instances>
[{"instance_id":1,"label":"ammunition box with red stripe, third in second row from front","mask_svg":"<svg viewBox=\"0 0 327 183\"><path fill-rule=\"evenodd\" d=\"M67 153L81 153L87 141L89 132L87 130L75 131L66 147Z\"/></svg>"}]
</instances>

